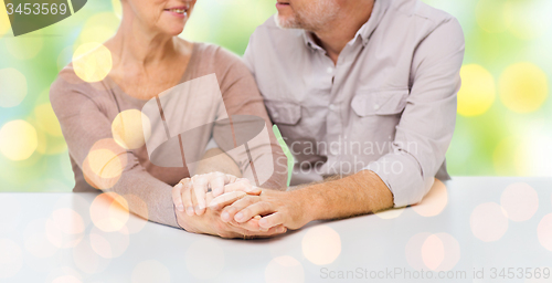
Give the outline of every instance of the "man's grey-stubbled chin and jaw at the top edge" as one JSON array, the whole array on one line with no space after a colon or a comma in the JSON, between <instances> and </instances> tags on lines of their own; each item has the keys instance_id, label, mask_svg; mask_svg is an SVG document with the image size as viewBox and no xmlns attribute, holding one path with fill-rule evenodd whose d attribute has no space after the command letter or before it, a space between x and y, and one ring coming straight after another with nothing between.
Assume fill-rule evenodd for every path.
<instances>
[{"instance_id":1,"label":"man's grey-stubbled chin and jaw at the top edge","mask_svg":"<svg viewBox=\"0 0 552 283\"><path fill-rule=\"evenodd\" d=\"M295 11L295 14L283 20L275 14L276 25L280 29L302 29L307 31L318 31L326 23L336 19L339 6L335 0L311 1L311 7L305 11Z\"/></svg>"}]
</instances>

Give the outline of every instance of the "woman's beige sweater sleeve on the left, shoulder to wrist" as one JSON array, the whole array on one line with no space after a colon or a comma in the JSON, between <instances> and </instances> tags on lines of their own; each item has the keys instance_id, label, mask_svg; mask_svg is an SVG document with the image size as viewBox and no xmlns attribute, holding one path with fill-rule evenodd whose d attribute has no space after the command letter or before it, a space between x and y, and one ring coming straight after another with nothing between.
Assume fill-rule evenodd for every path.
<instances>
[{"instance_id":1,"label":"woman's beige sweater sleeve on the left, shoulder to wrist","mask_svg":"<svg viewBox=\"0 0 552 283\"><path fill-rule=\"evenodd\" d=\"M149 175L132 151L115 142L105 109L116 104L102 92L106 91L79 81L71 67L52 84L50 99L70 155L92 187L121 196L132 213L180 228L172 188Z\"/></svg>"}]
</instances>

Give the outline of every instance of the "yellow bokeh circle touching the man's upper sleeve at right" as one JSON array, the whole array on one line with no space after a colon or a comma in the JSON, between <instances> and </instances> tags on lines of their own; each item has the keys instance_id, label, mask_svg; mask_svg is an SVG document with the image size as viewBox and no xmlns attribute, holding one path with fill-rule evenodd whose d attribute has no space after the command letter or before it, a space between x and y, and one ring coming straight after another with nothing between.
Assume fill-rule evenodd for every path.
<instances>
[{"instance_id":1,"label":"yellow bokeh circle touching the man's upper sleeve at right","mask_svg":"<svg viewBox=\"0 0 552 283\"><path fill-rule=\"evenodd\" d=\"M469 64L460 69L461 87L458 91L458 114L478 116L495 102L496 86L492 75L481 65Z\"/></svg>"}]
</instances>

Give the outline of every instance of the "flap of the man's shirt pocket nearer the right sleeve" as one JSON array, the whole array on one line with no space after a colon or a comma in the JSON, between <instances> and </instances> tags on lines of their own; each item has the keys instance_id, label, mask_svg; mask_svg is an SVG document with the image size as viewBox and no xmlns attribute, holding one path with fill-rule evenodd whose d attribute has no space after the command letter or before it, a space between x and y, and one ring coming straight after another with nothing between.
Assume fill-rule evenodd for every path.
<instances>
[{"instance_id":1,"label":"flap of the man's shirt pocket nearer the right sleeve","mask_svg":"<svg viewBox=\"0 0 552 283\"><path fill-rule=\"evenodd\" d=\"M351 101L351 107L358 116L395 115L406 107L408 90L367 91L358 93Z\"/></svg>"}]
</instances>

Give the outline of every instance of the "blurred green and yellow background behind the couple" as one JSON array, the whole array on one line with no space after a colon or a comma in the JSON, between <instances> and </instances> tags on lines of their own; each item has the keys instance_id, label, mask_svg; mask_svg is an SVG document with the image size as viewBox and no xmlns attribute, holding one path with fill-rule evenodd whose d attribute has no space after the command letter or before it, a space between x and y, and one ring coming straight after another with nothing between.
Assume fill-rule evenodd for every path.
<instances>
[{"instance_id":1,"label":"blurred green and yellow background behind the couple","mask_svg":"<svg viewBox=\"0 0 552 283\"><path fill-rule=\"evenodd\" d=\"M0 153L0 191L70 191L73 188L67 148L49 105L49 87L79 44L103 42L113 35L119 22L118 1L88 1L62 22L14 38L0 0L0 73L14 69L26 81L26 95L19 105L0 106L0 128L12 120L25 120L35 128L38 137L36 150L24 160L14 161ZM453 176L552 176L552 105L548 97L552 77L552 17L546 14L552 11L552 1L425 2L459 20L466 36L465 65L482 66L496 84L488 109L477 116L457 116L447 154L449 172ZM276 12L274 3L274 0L198 0L181 36L212 42L243 54L251 33ZM508 107L498 87L505 70L520 62L529 62L546 75L546 99L527 113ZM8 88L1 82L0 92L6 94ZM533 90L531 82L527 84L527 92ZM517 95L520 99L527 97L526 92ZM1 133L0 147L4 138Z\"/></svg>"}]
</instances>

